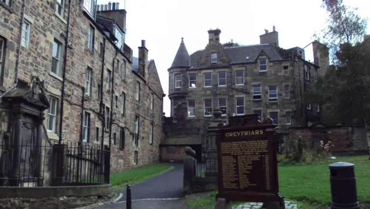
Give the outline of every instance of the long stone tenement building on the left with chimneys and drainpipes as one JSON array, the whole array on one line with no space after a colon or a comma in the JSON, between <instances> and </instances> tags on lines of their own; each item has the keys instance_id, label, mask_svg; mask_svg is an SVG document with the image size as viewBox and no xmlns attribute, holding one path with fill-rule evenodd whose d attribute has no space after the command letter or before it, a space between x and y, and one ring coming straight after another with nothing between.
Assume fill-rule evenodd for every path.
<instances>
[{"instance_id":1,"label":"long stone tenement building on the left with chimneys and drainpipes","mask_svg":"<svg viewBox=\"0 0 370 209\"><path fill-rule=\"evenodd\" d=\"M38 77L50 104L43 140L110 146L111 172L158 161L164 92L145 40L138 58L125 43L119 3L2 0L0 14L2 142L19 131L4 98Z\"/></svg>"}]
</instances>

